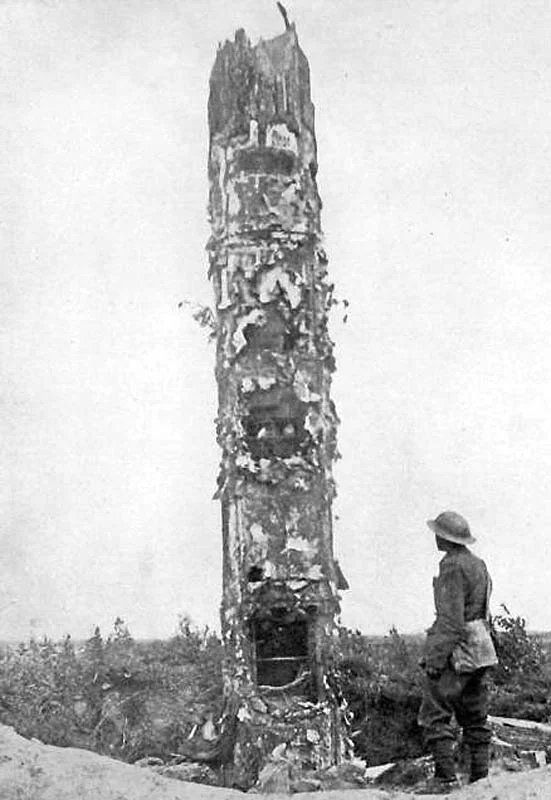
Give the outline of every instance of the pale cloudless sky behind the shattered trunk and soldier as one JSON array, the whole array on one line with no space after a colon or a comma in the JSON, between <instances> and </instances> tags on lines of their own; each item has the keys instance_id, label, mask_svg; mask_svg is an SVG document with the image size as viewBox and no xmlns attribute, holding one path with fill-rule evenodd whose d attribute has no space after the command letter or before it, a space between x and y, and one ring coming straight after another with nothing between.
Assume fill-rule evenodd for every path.
<instances>
[{"instance_id":1,"label":"pale cloudless sky behind the shattered trunk and soldier","mask_svg":"<svg viewBox=\"0 0 551 800\"><path fill-rule=\"evenodd\" d=\"M551 5L287 0L310 61L343 621L432 619L463 513L551 628ZM218 626L208 78L268 0L0 3L0 639Z\"/></svg>"}]
</instances>

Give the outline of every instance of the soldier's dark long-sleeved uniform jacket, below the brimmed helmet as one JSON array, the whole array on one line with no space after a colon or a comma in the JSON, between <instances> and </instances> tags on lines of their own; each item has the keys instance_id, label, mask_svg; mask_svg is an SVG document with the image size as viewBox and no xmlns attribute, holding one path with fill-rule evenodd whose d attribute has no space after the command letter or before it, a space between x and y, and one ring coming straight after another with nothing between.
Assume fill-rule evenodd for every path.
<instances>
[{"instance_id":1,"label":"soldier's dark long-sleeved uniform jacket, below the brimmed helmet","mask_svg":"<svg viewBox=\"0 0 551 800\"><path fill-rule=\"evenodd\" d=\"M443 670L464 636L464 624L486 616L488 569L467 547L445 554L433 580L436 619L427 631L426 666Z\"/></svg>"}]
</instances>

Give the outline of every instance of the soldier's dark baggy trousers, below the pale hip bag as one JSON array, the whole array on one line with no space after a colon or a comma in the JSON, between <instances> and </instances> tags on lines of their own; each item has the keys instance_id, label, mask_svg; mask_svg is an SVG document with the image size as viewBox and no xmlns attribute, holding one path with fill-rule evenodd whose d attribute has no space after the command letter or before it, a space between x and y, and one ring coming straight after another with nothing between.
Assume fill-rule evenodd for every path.
<instances>
[{"instance_id":1,"label":"soldier's dark baggy trousers, below the pale hip bag","mask_svg":"<svg viewBox=\"0 0 551 800\"><path fill-rule=\"evenodd\" d=\"M427 745L455 738L451 726L454 714L463 729L463 740L471 749L490 742L486 672L479 669L458 675L446 669L439 678L426 678L418 722L424 729Z\"/></svg>"}]
</instances>

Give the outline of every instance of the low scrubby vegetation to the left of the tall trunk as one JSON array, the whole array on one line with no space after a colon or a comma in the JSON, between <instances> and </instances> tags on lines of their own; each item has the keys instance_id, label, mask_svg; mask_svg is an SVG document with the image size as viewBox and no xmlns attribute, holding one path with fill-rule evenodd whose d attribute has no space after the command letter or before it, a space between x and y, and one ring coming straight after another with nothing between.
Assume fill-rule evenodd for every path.
<instances>
[{"instance_id":1,"label":"low scrubby vegetation to the left of the tall trunk","mask_svg":"<svg viewBox=\"0 0 551 800\"><path fill-rule=\"evenodd\" d=\"M121 619L79 647L31 640L0 658L0 722L125 761L167 757L220 711L221 659L218 637L185 617L166 641L136 641Z\"/></svg>"}]
</instances>

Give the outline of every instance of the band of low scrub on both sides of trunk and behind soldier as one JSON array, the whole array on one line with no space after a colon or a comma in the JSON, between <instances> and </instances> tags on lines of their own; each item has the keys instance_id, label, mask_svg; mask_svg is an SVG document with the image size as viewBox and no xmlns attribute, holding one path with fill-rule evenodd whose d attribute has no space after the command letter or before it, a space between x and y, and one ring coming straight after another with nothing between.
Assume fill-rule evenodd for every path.
<instances>
[{"instance_id":1,"label":"band of low scrub on both sides of trunk and behind soldier","mask_svg":"<svg viewBox=\"0 0 551 800\"><path fill-rule=\"evenodd\" d=\"M493 714L551 721L551 642L503 607L494 619L500 665ZM423 752L417 727L422 637L369 637L342 628L333 683L346 705L356 754L368 764ZM136 641L117 619L76 646L31 640L0 654L0 722L28 738L134 762L169 759L190 737L212 735L222 709L222 646L182 617L174 636ZM210 727L209 727L210 726Z\"/></svg>"}]
</instances>

